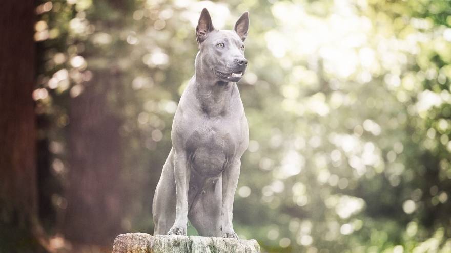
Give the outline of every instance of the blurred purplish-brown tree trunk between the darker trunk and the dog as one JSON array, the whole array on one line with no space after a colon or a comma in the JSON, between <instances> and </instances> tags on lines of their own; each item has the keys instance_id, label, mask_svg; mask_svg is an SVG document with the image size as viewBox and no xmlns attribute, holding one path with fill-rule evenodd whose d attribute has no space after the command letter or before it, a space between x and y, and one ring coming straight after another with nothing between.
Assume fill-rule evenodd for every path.
<instances>
[{"instance_id":1,"label":"blurred purplish-brown tree trunk between the darker trunk and the dog","mask_svg":"<svg viewBox=\"0 0 451 253\"><path fill-rule=\"evenodd\" d=\"M121 121L107 98L117 76L95 73L70 103L69 186L66 238L77 243L111 245L121 232Z\"/></svg>"}]
</instances>

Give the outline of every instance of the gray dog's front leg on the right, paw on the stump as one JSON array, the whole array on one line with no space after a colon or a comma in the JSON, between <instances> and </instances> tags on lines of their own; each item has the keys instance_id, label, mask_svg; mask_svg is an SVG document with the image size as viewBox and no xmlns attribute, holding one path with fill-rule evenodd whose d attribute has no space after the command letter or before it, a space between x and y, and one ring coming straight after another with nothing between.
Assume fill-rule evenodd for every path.
<instances>
[{"instance_id":1,"label":"gray dog's front leg on the right, paw on the stump","mask_svg":"<svg viewBox=\"0 0 451 253\"><path fill-rule=\"evenodd\" d=\"M240 159L234 159L222 172L222 237L238 239L238 235L233 230L232 218L233 199L238 185L240 167Z\"/></svg>"}]
</instances>

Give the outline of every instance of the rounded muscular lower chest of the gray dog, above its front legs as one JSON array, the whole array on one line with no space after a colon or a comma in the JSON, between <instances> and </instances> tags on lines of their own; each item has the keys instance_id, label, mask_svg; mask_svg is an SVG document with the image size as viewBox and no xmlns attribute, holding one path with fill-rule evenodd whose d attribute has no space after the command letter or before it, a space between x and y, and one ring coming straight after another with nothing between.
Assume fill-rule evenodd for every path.
<instances>
[{"instance_id":1,"label":"rounded muscular lower chest of the gray dog, above its front legs","mask_svg":"<svg viewBox=\"0 0 451 253\"><path fill-rule=\"evenodd\" d=\"M230 120L203 121L187 140L192 169L202 176L218 176L236 153L240 129Z\"/></svg>"}]
</instances>

